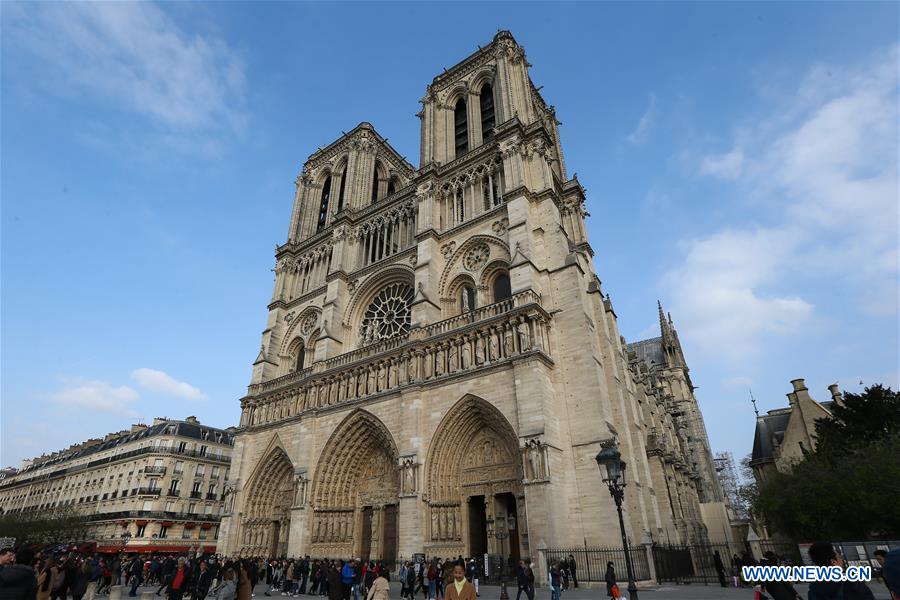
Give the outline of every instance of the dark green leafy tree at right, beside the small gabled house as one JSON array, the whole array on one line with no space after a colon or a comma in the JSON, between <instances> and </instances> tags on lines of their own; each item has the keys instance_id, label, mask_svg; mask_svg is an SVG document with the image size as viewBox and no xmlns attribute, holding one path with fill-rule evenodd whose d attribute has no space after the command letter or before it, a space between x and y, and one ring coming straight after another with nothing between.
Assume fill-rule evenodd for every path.
<instances>
[{"instance_id":1,"label":"dark green leafy tree at right, beside the small gabled house","mask_svg":"<svg viewBox=\"0 0 900 600\"><path fill-rule=\"evenodd\" d=\"M815 452L775 473L754 502L770 528L797 540L900 535L900 398L875 385L845 394L816 422Z\"/></svg>"}]
</instances>

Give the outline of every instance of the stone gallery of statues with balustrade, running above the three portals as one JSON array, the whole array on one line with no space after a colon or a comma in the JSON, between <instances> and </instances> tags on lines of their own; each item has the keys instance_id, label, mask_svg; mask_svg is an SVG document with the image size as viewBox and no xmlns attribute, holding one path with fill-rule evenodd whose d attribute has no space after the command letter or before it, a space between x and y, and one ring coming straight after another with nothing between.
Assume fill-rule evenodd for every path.
<instances>
[{"instance_id":1,"label":"stone gallery of statues with balustrade, running above the three portals","mask_svg":"<svg viewBox=\"0 0 900 600\"><path fill-rule=\"evenodd\" d=\"M409 385L550 357L550 316L530 291L316 363L311 370L251 386L241 427L265 426Z\"/></svg>"}]
</instances>

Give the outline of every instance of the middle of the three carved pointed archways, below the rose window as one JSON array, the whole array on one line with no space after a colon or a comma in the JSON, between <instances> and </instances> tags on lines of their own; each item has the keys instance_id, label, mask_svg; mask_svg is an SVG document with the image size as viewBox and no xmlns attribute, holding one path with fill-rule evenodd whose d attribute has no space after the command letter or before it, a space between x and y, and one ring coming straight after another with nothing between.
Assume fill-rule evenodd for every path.
<instances>
[{"instance_id":1,"label":"middle of the three carved pointed archways, below the rose window","mask_svg":"<svg viewBox=\"0 0 900 600\"><path fill-rule=\"evenodd\" d=\"M311 555L396 559L399 456L384 423L356 410L319 455L313 482Z\"/></svg>"}]
</instances>

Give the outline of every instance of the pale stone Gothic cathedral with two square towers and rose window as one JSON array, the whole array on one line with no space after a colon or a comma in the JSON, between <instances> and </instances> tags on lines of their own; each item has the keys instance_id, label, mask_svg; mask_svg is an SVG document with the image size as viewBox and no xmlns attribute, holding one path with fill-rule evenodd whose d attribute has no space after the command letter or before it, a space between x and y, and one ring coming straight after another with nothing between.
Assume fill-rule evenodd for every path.
<instances>
[{"instance_id":1,"label":"pale stone Gothic cathedral with two square towers and rose window","mask_svg":"<svg viewBox=\"0 0 900 600\"><path fill-rule=\"evenodd\" d=\"M594 460L612 440L633 543L727 537L677 332L660 308L658 338L620 336L528 67L503 31L438 75L418 168L369 123L304 164L220 552L619 546ZM504 539L488 531L501 520Z\"/></svg>"}]
</instances>

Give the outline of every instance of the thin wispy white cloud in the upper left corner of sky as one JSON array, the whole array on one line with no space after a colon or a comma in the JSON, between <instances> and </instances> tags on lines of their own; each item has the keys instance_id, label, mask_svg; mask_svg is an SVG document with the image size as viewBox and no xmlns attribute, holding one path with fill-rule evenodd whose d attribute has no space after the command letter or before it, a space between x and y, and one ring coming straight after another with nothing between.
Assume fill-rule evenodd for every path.
<instances>
[{"instance_id":1,"label":"thin wispy white cloud in the upper left corner of sky","mask_svg":"<svg viewBox=\"0 0 900 600\"><path fill-rule=\"evenodd\" d=\"M32 3L8 26L17 45L42 59L54 92L86 93L169 135L243 127L238 56L214 36L182 30L154 4Z\"/></svg>"}]
</instances>

